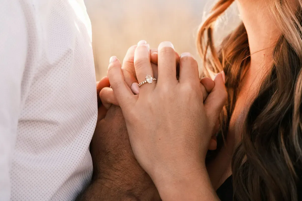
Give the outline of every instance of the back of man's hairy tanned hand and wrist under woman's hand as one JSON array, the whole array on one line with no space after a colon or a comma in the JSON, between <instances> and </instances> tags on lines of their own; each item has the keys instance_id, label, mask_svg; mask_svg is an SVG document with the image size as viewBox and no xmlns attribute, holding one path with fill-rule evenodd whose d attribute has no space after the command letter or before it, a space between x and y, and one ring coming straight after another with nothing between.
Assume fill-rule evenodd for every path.
<instances>
[{"instance_id":1,"label":"back of man's hairy tanned hand and wrist under woman's hand","mask_svg":"<svg viewBox=\"0 0 302 201\"><path fill-rule=\"evenodd\" d=\"M112 105L92 137L92 184L78 200L161 200L135 159L120 107Z\"/></svg>"}]
</instances>

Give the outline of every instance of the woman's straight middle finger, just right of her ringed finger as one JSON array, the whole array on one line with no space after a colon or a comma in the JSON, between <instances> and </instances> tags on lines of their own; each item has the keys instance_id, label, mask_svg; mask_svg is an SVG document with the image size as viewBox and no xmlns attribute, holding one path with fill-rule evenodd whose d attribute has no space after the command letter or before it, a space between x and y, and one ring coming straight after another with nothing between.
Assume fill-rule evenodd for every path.
<instances>
[{"instance_id":1,"label":"woman's straight middle finger, just right of her ringed finger","mask_svg":"<svg viewBox=\"0 0 302 201\"><path fill-rule=\"evenodd\" d=\"M158 81L163 83L178 83L176 79L175 50L171 42L161 42L158 46Z\"/></svg>"}]
</instances>

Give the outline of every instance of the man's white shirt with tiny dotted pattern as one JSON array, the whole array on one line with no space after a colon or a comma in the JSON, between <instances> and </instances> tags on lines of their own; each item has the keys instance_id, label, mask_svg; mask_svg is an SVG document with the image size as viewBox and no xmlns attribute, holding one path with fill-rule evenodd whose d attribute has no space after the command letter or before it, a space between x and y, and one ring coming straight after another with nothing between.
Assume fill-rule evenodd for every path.
<instances>
[{"instance_id":1,"label":"man's white shirt with tiny dotted pattern","mask_svg":"<svg viewBox=\"0 0 302 201\"><path fill-rule=\"evenodd\" d=\"M0 200L74 200L97 121L83 0L0 2Z\"/></svg>"}]
</instances>

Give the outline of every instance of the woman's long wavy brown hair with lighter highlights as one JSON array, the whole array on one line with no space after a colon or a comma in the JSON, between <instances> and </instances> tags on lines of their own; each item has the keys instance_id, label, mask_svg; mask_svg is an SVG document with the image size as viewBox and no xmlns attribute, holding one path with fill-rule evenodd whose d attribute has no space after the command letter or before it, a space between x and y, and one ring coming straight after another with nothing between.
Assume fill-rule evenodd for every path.
<instances>
[{"instance_id":1,"label":"woman's long wavy brown hair with lighter highlights","mask_svg":"<svg viewBox=\"0 0 302 201\"><path fill-rule=\"evenodd\" d=\"M220 0L214 5L197 39L204 75L209 77L222 70L226 74L228 103L218 136L228 132L240 82L250 62L243 23L219 49L214 47L214 23L233 2ZM236 200L297 201L297 193L302 190L297 189L302 176L302 0L297 4L296 10L286 0L270 0L268 5L281 36L273 50L271 70L249 108L242 141L233 155Z\"/></svg>"}]
</instances>

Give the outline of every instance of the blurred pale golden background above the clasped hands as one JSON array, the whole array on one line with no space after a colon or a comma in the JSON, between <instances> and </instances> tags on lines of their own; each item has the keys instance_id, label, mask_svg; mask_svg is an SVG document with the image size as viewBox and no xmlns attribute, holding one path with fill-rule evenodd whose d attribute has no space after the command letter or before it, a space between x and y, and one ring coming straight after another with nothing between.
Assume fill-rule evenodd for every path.
<instances>
[{"instance_id":1,"label":"blurred pale golden background above the clasped hands","mask_svg":"<svg viewBox=\"0 0 302 201\"><path fill-rule=\"evenodd\" d=\"M96 79L106 75L111 56L122 62L127 49L142 39L151 48L171 41L178 53L191 52L201 66L196 32L213 4L213 0L86 0L92 22ZM234 5L217 24L217 42L237 21Z\"/></svg>"}]
</instances>

